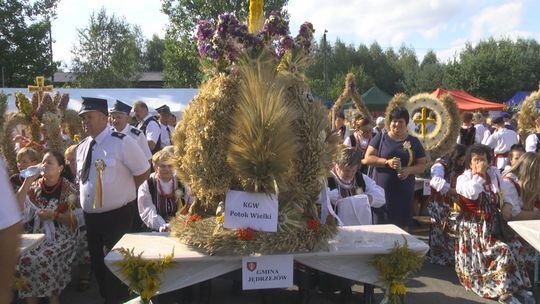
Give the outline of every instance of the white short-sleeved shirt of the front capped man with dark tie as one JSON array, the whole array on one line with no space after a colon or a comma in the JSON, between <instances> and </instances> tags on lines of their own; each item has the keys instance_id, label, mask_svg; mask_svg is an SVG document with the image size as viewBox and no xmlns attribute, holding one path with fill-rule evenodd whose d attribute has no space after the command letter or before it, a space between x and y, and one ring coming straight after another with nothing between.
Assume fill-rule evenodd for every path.
<instances>
[{"instance_id":1,"label":"white short-sleeved shirt of the front capped man with dark tie","mask_svg":"<svg viewBox=\"0 0 540 304\"><path fill-rule=\"evenodd\" d=\"M85 183L80 182L80 202L85 212L102 213L118 209L135 200L137 189L133 177L145 173L150 169L150 164L135 140L125 134L117 133L117 136L114 136L110 128L105 128L94 140L96 144L93 147L88 180ZM79 179L91 141L92 137L89 136L77 147ZM97 159L105 162L102 173L102 208L93 206Z\"/></svg>"}]
</instances>

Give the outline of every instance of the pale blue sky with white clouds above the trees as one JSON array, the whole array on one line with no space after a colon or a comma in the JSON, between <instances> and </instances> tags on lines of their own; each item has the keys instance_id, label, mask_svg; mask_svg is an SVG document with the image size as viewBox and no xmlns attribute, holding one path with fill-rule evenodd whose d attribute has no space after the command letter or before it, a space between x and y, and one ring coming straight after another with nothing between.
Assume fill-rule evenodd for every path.
<instances>
[{"instance_id":1,"label":"pale blue sky with white clouds above the trees","mask_svg":"<svg viewBox=\"0 0 540 304\"><path fill-rule=\"evenodd\" d=\"M246 0L247 1L247 0ZM69 64L77 28L88 24L92 11L125 17L146 37L163 37L168 23L158 0L61 0L53 23L55 60ZM328 39L383 48L412 47L419 57L433 49L439 59L452 58L467 42L488 37L533 38L540 41L540 1L536 0L289 0L291 32L304 21L313 23L317 40Z\"/></svg>"}]
</instances>

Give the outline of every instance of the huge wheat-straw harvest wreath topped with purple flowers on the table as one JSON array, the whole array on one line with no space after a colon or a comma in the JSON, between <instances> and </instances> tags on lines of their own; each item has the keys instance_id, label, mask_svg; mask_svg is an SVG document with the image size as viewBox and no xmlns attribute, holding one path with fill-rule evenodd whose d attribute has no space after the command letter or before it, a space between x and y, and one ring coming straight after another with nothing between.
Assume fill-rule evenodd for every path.
<instances>
[{"instance_id":1,"label":"huge wheat-straw harvest wreath topped with purple flowers on the table","mask_svg":"<svg viewBox=\"0 0 540 304\"><path fill-rule=\"evenodd\" d=\"M262 11L259 2L250 7ZM173 134L177 175L196 199L171 220L171 235L209 254L319 248L336 232L334 222L320 222L316 204L337 136L304 81L313 27L302 24L293 38L275 12L259 30L230 14L217 23L198 22L209 77ZM275 195L277 232L224 228L230 190Z\"/></svg>"}]
</instances>

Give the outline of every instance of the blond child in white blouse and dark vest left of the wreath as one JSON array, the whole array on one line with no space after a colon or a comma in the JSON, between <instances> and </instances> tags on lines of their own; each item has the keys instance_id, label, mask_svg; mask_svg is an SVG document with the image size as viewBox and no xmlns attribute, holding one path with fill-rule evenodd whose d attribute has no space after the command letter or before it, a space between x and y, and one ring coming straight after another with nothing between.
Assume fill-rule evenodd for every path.
<instances>
[{"instance_id":1,"label":"blond child in white blouse and dark vest left of the wreath","mask_svg":"<svg viewBox=\"0 0 540 304\"><path fill-rule=\"evenodd\" d=\"M138 190L137 201L141 219L148 228L155 231L169 231L167 219L179 210L187 211L189 205L186 188L174 174L172 157L173 154L168 150L154 154L152 164L156 172L152 173Z\"/></svg>"}]
</instances>

